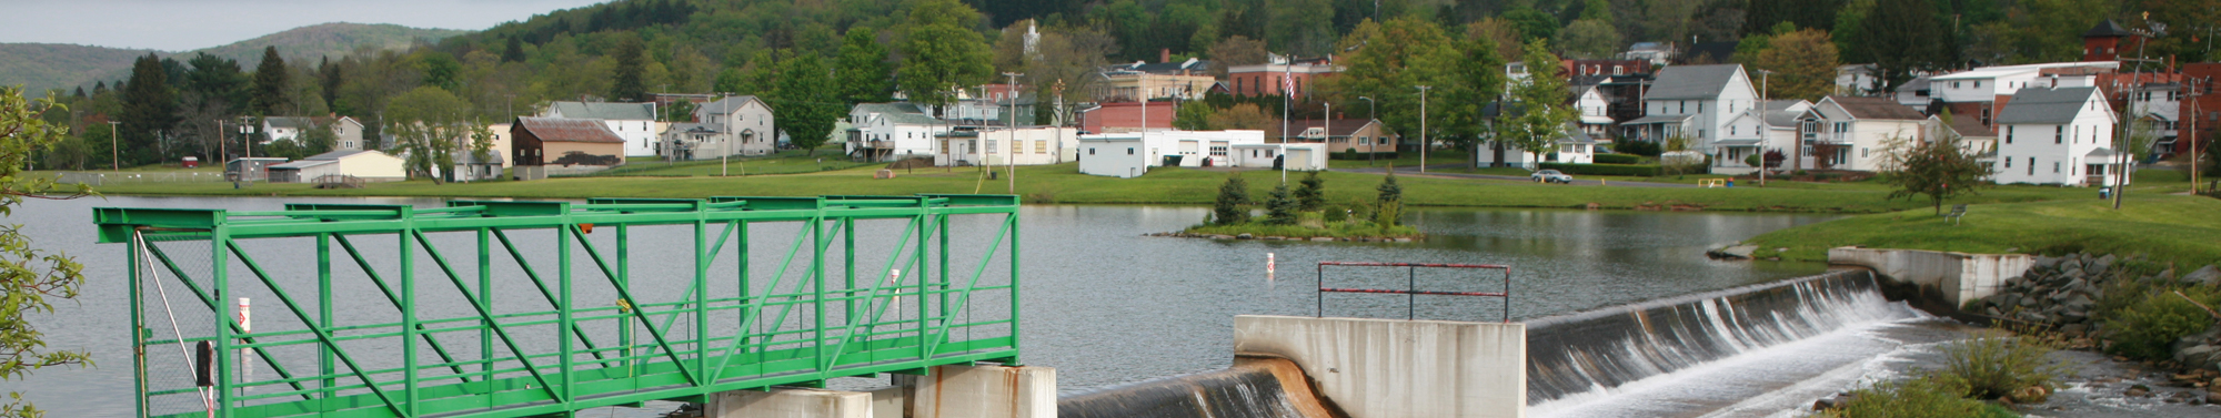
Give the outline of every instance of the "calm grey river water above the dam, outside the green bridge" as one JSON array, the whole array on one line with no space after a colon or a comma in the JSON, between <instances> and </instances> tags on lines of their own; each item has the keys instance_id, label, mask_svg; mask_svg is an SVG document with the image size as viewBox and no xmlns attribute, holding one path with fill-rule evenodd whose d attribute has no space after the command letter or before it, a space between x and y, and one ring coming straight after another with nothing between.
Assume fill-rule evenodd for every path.
<instances>
[{"instance_id":1,"label":"calm grey river water above the dam, outside the green bridge","mask_svg":"<svg viewBox=\"0 0 2221 418\"><path fill-rule=\"evenodd\" d=\"M284 202L438 207L426 198L80 198L31 200L4 222L40 249L87 265L78 300L38 316L53 349L89 349L98 367L44 369L0 382L58 416L131 416L129 309L122 245L93 245L91 207L278 209ZM1815 213L1661 213L1568 209L1413 209L1421 242L1190 240L1177 231L1206 207L1024 207L1024 360L1057 367L1062 391L1222 369L1233 316L1317 309L1319 260L1488 262L1513 267L1513 318L1681 296L1823 271L1817 262L1719 262L1710 247L1830 220ZM868 236L866 236L868 238ZM782 247L782 238L757 238ZM635 245L653 253L651 245ZM460 247L458 247L460 249ZM782 247L784 249L784 247ZM771 253L771 251L764 251ZM1279 262L1266 280L1266 253ZM453 253L451 253L453 256ZM306 262L302 262L306 265ZM1401 287L1404 271L1330 271L1328 280ZM1501 276L1426 273L1421 287L1495 291ZM271 300L275 302L275 300ZM258 302L260 305L260 302ZM1333 316L1399 318L1404 298L1335 296ZM258 309L260 311L260 309ZM1419 318L1495 320L1497 302L1419 298ZM278 314L278 307L271 307ZM624 414L635 416L635 414Z\"/></svg>"}]
</instances>

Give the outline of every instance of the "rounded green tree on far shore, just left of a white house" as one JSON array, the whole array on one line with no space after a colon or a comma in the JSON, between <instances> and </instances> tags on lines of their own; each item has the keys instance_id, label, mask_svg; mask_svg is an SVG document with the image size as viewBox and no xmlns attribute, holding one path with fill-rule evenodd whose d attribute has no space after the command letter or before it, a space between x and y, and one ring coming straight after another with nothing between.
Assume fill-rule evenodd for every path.
<instances>
[{"instance_id":1,"label":"rounded green tree on far shore, just left of a white house","mask_svg":"<svg viewBox=\"0 0 2221 418\"><path fill-rule=\"evenodd\" d=\"M800 53L780 64L775 84L768 102L780 107L780 131L786 131L795 147L817 153L833 133L833 122L848 111L833 89L824 89L833 84L833 69L826 69L817 53Z\"/></svg>"}]
</instances>

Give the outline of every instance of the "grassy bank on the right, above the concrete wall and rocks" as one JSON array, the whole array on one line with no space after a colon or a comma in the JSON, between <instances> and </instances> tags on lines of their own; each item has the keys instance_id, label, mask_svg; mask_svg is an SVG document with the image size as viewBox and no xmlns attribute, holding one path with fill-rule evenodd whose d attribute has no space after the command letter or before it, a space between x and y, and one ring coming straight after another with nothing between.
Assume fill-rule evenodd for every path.
<instances>
[{"instance_id":1,"label":"grassy bank on the right, above the concrete wall and rocks","mask_svg":"<svg viewBox=\"0 0 2221 418\"><path fill-rule=\"evenodd\" d=\"M1930 209L1852 216L1746 240L1755 256L1828 260L1830 247L1934 249L1968 253L2148 253L2154 260L2221 262L2221 200L2197 196L2077 196L2054 202L1974 205L1952 225Z\"/></svg>"}]
</instances>

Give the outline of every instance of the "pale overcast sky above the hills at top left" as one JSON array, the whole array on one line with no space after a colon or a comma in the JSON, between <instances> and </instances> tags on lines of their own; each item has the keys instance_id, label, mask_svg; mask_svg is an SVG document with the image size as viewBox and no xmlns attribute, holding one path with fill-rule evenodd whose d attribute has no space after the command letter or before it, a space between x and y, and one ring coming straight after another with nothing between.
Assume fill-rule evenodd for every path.
<instances>
[{"instance_id":1,"label":"pale overcast sky above the hills at top left","mask_svg":"<svg viewBox=\"0 0 2221 418\"><path fill-rule=\"evenodd\" d=\"M486 29L604 0L0 0L0 42L191 51L320 22Z\"/></svg>"}]
</instances>

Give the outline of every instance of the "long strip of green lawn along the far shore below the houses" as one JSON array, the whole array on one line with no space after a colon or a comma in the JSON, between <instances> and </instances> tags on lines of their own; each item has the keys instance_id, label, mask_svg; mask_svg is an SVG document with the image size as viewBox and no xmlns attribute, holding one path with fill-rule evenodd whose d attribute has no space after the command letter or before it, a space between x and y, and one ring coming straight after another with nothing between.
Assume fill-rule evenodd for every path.
<instances>
[{"instance_id":1,"label":"long strip of green lawn along the far shore below the houses","mask_svg":"<svg viewBox=\"0 0 2221 418\"><path fill-rule=\"evenodd\" d=\"M984 180L977 169L915 169L900 178L873 180L877 167L746 178L551 178L533 182L431 185L424 180L380 182L364 189L313 189L309 185L155 182L100 187L111 196L422 196L422 198L704 198L704 196L902 196L902 193L1006 193L1008 180ZM1084 176L1077 165L1019 167L1017 193L1026 202L1055 205L1208 205L1228 171L1153 169L1142 178ZM1262 196L1279 185L1279 171L1242 171ZM1324 173L1330 202L1370 200L1377 173ZM1293 180L1293 178L1290 178ZM1877 185L1828 189L1735 187L1568 187L1526 180L1464 180L1406 176L1404 202L1413 207L1599 207L1686 211L1821 211L1881 213L1919 209L1923 202L1888 200ZM2092 200L2090 189L1997 187L1952 202Z\"/></svg>"}]
</instances>

